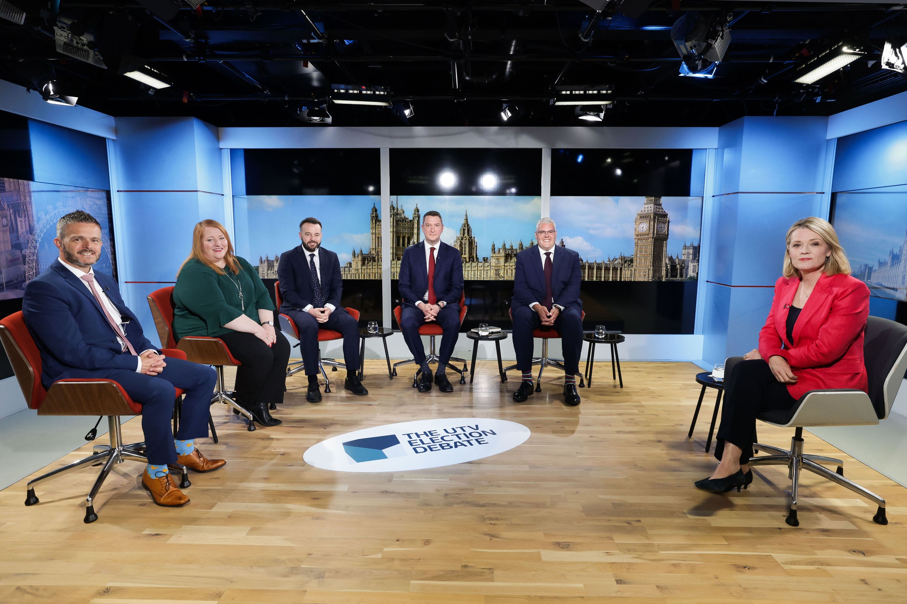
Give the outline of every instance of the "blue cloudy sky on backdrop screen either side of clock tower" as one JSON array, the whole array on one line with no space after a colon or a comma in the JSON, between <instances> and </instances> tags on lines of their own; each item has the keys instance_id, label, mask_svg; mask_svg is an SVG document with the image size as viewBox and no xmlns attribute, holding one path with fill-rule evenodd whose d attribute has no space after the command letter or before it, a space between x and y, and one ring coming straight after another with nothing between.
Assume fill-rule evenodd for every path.
<instances>
[{"instance_id":1,"label":"blue cloudy sky on backdrop screen either side of clock tower","mask_svg":"<svg viewBox=\"0 0 907 604\"><path fill-rule=\"evenodd\" d=\"M551 197L551 218L567 247L583 260L606 260L633 254L633 225L645 197ZM699 243L701 197L662 197L668 212L668 254L678 255L686 243Z\"/></svg>"}]
</instances>

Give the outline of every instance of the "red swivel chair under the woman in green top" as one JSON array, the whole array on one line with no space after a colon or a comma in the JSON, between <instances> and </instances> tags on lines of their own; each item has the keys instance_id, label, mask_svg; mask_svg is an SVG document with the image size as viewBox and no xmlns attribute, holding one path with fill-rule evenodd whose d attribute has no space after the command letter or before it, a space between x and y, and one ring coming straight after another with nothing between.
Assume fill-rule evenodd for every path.
<instances>
[{"instance_id":1,"label":"red swivel chair under the woman in green top","mask_svg":"<svg viewBox=\"0 0 907 604\"><path fill-rule=\"evenodd\" d=\"M208 336L186 336L177 342L173 337L173 288L161 287L160 290L151 292L148 296L148 306L151 307L151 316L154 317L154 326L158 329L161 346L168 346L186 353L186 358L193 363L210 365L218 370L218 389L211 396L211 405L223 403L233 407L233 413L245 417L249 421L249 432L255 430L255 420L249 410L239 405L233 398L235 393L224 388L224 367L239 367L242 363L233 358L229 353L227 344L219 338ZM211 438L218 442L218 433L214 429L214 420L208 417L211 428Z\"/></svg>"}]
</instances>

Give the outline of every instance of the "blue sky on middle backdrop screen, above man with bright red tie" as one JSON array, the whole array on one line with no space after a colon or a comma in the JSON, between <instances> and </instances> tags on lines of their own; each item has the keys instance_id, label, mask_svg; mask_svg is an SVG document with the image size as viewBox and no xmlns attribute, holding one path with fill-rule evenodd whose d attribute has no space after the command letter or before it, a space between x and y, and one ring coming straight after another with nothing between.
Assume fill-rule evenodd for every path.
<instances>
[{"instance_id":1,"label":"blue sky on middle backdrop screen, above man with bright red tie","mask_svg":"<svg viewBox=\"0 0 907 604\"><path fill-rule=\"evenodd\" d=\"M397 199L406 216L413 216L418 204L424 216L429 210L441 213L444 233L441 240L453 244L463 225L463 214L469 212L469 224L478 244L479 258L492 254L492 242L529 245L534 240L535 224L541 217L541 197L529 196L414 196L401 195Z\"/></svg>"}]
</instances>

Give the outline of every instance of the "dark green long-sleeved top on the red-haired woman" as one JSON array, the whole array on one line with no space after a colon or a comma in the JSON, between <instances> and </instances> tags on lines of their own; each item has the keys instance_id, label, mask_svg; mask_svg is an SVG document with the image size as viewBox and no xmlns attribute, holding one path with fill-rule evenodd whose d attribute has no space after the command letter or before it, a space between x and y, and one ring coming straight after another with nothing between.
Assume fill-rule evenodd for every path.
<instances>
[{"instance_id":1,"label":"dark green long-sleeved top on the red-haired woman","mask_svg":"<svg viewBox=\"0 0 907 604\"><path fill-rule=\"evenodd\" d=\"M273 311L274 303L261 283L258 272L244 258L239 262L239 274L224 269L224 274L192 259L180 271L173 288L173 332L176 340L185 336L218 337L230 333L224 327L229 321L245 314L258 321L258 310ZM245 311L239 301L239 291L245 301Z\"/></svg>"}]
</instances>

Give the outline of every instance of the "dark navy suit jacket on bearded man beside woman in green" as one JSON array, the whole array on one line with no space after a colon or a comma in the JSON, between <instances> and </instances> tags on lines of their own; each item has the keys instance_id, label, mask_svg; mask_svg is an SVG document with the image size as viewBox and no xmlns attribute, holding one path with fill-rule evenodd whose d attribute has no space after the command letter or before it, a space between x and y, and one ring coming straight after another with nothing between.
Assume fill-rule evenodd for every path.
<instances>
[{"instance_id":1,"label":"dark navy suit jacket on bearded man beside woman in green","mask_svg":"<svg viewBox=\"0 0 907 604\"><path fill-rule=\"evenodd\" d=\"M337 254L318 249L318 261L321 264L321 295L326 304L340 305L343 294L343 279L340 276L340 260ZM308 252L297 245L288 252L280 254L278 264L280 280L280 312L301 311L309 304L315 305L315 291L312 286L311 271L308 269Z\"/></svg>"}]
</instances>

